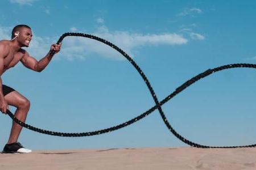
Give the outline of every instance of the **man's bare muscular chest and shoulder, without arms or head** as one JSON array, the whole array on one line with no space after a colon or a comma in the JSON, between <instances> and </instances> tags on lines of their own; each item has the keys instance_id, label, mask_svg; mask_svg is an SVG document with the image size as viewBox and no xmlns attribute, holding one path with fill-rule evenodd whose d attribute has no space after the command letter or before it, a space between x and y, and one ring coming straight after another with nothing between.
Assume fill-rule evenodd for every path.
<instances>
[{"instance_id":1,"label":"man's bare muscular chest and shoulder, without arms or head","mask_svg":"<svg viewBox=\"0 0 256 170\"><path fill-rule=\"evenodd\" d=\"M11 67L14 67L16 63L18 63L20 59L22 59L25 50L20 49L18 52L15 52L13 49L11 49L11 46L8 41L0 41L0 43L4 43L6 45L7 50L7 54L3 59L3 72L5 72Z\"/></svg>"}]
</instances>

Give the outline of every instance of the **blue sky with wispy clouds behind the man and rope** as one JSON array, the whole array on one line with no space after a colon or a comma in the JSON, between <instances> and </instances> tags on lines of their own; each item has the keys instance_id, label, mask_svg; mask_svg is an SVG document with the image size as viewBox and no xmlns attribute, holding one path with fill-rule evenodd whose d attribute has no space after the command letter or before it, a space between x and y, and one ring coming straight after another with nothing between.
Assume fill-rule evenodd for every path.
<instances>
[{"instance_id":1,"label":"blue sky with wispy clouds behind the man and rope","mask_svg":"<svg viewBox=\"0 0 256 170\"><path fill-rule=\"evenodd\" d=\"M62 33L100 36L133 57L162 100L207 69L255 63L255 7L254 1L1 1L0 39L10 39L16 24L28 24L34 39L26 50L40 59ZM253 69L210 75L163 111L174 129L193 142L255 143L255 77ZM109 128L154 106L146 84L121 54L84 38L65 38L42 73L19 64L2 80L31 101L27 123L52 131ZM0 121L3 146L11 120L2 115ZM61 138L23 129L19 141L33 150L186 146L157 111L108 134Z\"/></svg>"}]
</instances>

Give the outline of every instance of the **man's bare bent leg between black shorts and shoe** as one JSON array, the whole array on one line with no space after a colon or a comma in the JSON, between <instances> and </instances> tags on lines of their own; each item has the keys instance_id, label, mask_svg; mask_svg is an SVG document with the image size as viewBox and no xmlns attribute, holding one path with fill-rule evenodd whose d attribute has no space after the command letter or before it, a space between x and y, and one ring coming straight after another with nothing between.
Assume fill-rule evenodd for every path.
<instances>
[{"instance_id":1,"label":"man's bare bent leg between black shorts and shoe","mask_svg":"<svg viewBox=\"0 0 256 170\"><path fill-rule=\"evenodd\" d=\"M27 113L30 109L30 101L27 100L26 97L20 95L17 91L13 91L7 94L5 96L5 100L9 105L12 105L17 108L14 114L15 117L18 118L20 121L25 122L27 118ZM13 122L9 141L7 143L17 142L21 130L22 126Z\"/></svg>"}]
</instances>

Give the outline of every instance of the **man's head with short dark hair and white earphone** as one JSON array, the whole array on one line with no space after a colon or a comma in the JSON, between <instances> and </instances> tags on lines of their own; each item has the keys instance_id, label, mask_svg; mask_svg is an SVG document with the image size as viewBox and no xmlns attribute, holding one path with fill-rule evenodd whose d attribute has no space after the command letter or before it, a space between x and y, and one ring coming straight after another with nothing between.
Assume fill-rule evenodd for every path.
<instances>
[{"instance_id":1,"label":"man's head with short dark hair and white earphone","mask_svg":"<svg viewBox=\"0 0 256 170\"><path fill-rule=\"evenodd\" d=\"M31 28L28 25L16 25L11 32L11 39L16 39L21 46L28 47L32 39Z\"/></svg>"}]
</instances>

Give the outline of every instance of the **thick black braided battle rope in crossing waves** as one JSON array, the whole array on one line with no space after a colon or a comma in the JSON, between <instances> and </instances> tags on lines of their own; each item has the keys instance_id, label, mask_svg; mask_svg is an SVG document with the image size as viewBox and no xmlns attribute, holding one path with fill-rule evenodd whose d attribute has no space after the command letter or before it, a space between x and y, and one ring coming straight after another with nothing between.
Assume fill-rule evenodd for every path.
<instances>
[{"instance_id":1,"label":"thick black braided battle rope in crossing waves","mask_svg":"<svg viewBox=\"0 0 256 170\"><path fill-rule=\"evenodd\" d=\"M106 45L111 46L112 48L117 50L119 53L121 53L126 59L128 59L128 61L135 67L135 69L138 71L138 73L142 76L142 79L147 84L148 90L150 90L150 94L152 95L156 105L154 107L148 109L148 111L142 113L138 117L135 117L135 118L133 118L133 119L127 121L127 122L124 122L123 124L119 124L117 126L113 126L111 128L107 128L107 129L102 129L102 130L97 130L97 131L90 131L90 132L85 132L85 133L60 133L60 132L56 132L56 131L48 131L48 130L44 130L44 129L35 128L31 125L25 124L24 122L18 120L18 118L16 118L13 113L11 113L9 110L7 110L7 114L13 119L13 121L15 121L20 126L23 126L24 128L27 128L27 129L30 129L30 130L33 130L33 131L36 131L36 132L39 132L39 133L48 134L48 135L55 135L55 136L60 136L60 137L85 137L85 136L92 136L92 135L108 133L110 131L114 131L114 130L117 130L117 129L124 128L125 126L131 125L134 122L136 122L138 120L141 120L142 118L148 116L148 114L150 114L153 111L155 111L156 109L158 109L158 111L159 111L159 113L160 113L160 115L161 115L161 117L164 121L164 124L166 124L167 128L171 131L171 133L174 134L175 137L179 138L180 141L182 141L184 143L187 143L190 146L199 147L199 148L237 148L237 147L255 147L256 146L256 144L254 144L254 145L247 145L247 146L224 146L224 147L220 147L220 146L204 146L204 145L200 145L200 144L191 142L188 139L185 139L184 137L182 137L179 133L177 133L174 130L174 128L172 128L170 123L167 121L167 118L164 115L164 112L161 108L161 106L164 103L166 103L168 100L172 99L172 97L179 94L185 88L187 88L188 86L191 86L191 84L197 82L198 80L200 80L202 78L205 78L206 76L208 76L212 73L215 73L215 72L221 71L221 70L225 70L225 69L237 68L237 67L247 67L247 68L256 69L256 65L247 64L247 63L238 63L238 64L220 66L220 67L216 67L214 69L208 69L208 70L204 71L203 73L200 73L200 74L194 76L192 79L189 79L187 82L182 84L180 87L176 88L176 90L174 92L172 92L172 94L168 95L164 100L159 102L158 98L156 97L155 92L154 92L154 90L153 90L153 88L150 84L150 82L148 81L148 79L146 77L146 75L144 75L143 71L137 65L137 63L135 63L133 61L133 59L131 59L131 57L128 54L123 52L122 49L118 48L116 45L112 44L109 41L101 39L100 37L93 36L93 35L88 35L88 34L85 34L85 33L64 33L63 35L61 35L61 37L57 41L57 43L59 44L61 41L63 41L64 37L67 37L67 36L80 36L80 37L86 37L86 38L89 38L89 39L94 39L94 40L103 42ZM51 54L54 54L54 52L52 52Z\"/></svg>"}]
</instances>

